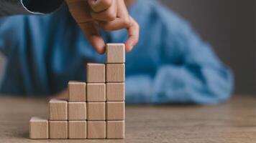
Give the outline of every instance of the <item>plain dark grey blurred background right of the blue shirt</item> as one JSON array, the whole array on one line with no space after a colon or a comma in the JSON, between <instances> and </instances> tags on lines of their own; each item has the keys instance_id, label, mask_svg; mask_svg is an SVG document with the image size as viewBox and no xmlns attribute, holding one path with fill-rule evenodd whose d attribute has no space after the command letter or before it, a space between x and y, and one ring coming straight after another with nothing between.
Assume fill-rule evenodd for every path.
<instances>
[{"instance_id":1,"label":"plain dark grey blurred background right of the blue shirt","mask_svg":"<svg viewBox=\"0 0 256 143\"><path fill-rule=\"evenodd\" d=\"M255 0L160 0L191 23L235 75L236 94L256 93Z\"/></svg>"}]
</instances>

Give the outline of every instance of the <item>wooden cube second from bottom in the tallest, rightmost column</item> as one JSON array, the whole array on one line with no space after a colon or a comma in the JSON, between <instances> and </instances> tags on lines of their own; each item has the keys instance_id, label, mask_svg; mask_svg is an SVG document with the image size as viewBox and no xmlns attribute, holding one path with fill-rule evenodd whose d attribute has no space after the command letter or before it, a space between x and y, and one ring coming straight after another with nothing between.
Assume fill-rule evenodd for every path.
<instances>
[{"instance_id":1,"label":"wooden cube second from bottom in the tallest, rightmost column","mask_svg":"<svg viewBox=\"0 0 256 143\"><path fill-rule=\"evenodd\" d=\"M124 120L124 102L106 102L106 120Z\"/></svg>"}]
</instances>

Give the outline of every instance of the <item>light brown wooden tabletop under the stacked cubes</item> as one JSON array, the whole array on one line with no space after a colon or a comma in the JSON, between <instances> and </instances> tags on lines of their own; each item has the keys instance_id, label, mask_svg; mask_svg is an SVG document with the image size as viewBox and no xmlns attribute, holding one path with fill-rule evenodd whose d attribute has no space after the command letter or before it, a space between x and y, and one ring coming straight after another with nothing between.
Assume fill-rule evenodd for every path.
<instances>
[{"instance_id":1,"label":"light brown wooden tabletop under the stacked cubes","mask_svg":"<svg viewBox=\"0 0 256 143\"><path fill-rule=\"evenodd\" d=\"M256 96L214 106L127 106L125 139L28 139L29 118L47 112L45 99L0 97L0 142L256 142Z\"/></svg>"}]
</instances>

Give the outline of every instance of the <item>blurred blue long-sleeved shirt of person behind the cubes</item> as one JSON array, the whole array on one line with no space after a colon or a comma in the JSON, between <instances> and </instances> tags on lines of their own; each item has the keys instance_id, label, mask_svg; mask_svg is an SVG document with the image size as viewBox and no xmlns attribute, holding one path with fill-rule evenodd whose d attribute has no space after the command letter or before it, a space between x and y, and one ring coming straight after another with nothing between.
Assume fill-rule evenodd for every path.
<instances>
[{"instance_id":1,"label":"blurred blue long-sleeved shirt of person behind the cubes","mask_svg":"<svg viewBox=\"0 0 256 143\"><path fill-rule=\"evenodd\" d=\"M229 99L232 72L186 21L152 0L138 0L129 13L140 24L140 41L126 55L127 103ZM107 43L127 39L125 30L101 34ZM65 5L52 14L1 19L0 50L7 61L1 94L55 94L69 80L86 80L86 63L105 61Z\"/></svg>"}]
</instances>

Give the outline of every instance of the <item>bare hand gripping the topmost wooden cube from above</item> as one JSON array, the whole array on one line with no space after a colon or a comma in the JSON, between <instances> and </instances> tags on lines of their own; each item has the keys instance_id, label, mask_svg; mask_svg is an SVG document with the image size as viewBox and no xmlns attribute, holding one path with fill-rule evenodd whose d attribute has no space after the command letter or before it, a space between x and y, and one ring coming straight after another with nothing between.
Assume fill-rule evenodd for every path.
<instances>
[{"instance_id":1,"label":"bare hand gripping the topmost wooden cube from above","mask_svg":"<svg viewBox=\"0 0 256 143\"><path fill-rule=\"evenodd\" d=\"M129 16L124 0L66 0L73 18L86 38L99 54L105 51L104 39L98 28L104 31L127 29L126 51L131 51L139 40L140 26Z\"/></svg>"}]
</instances>

